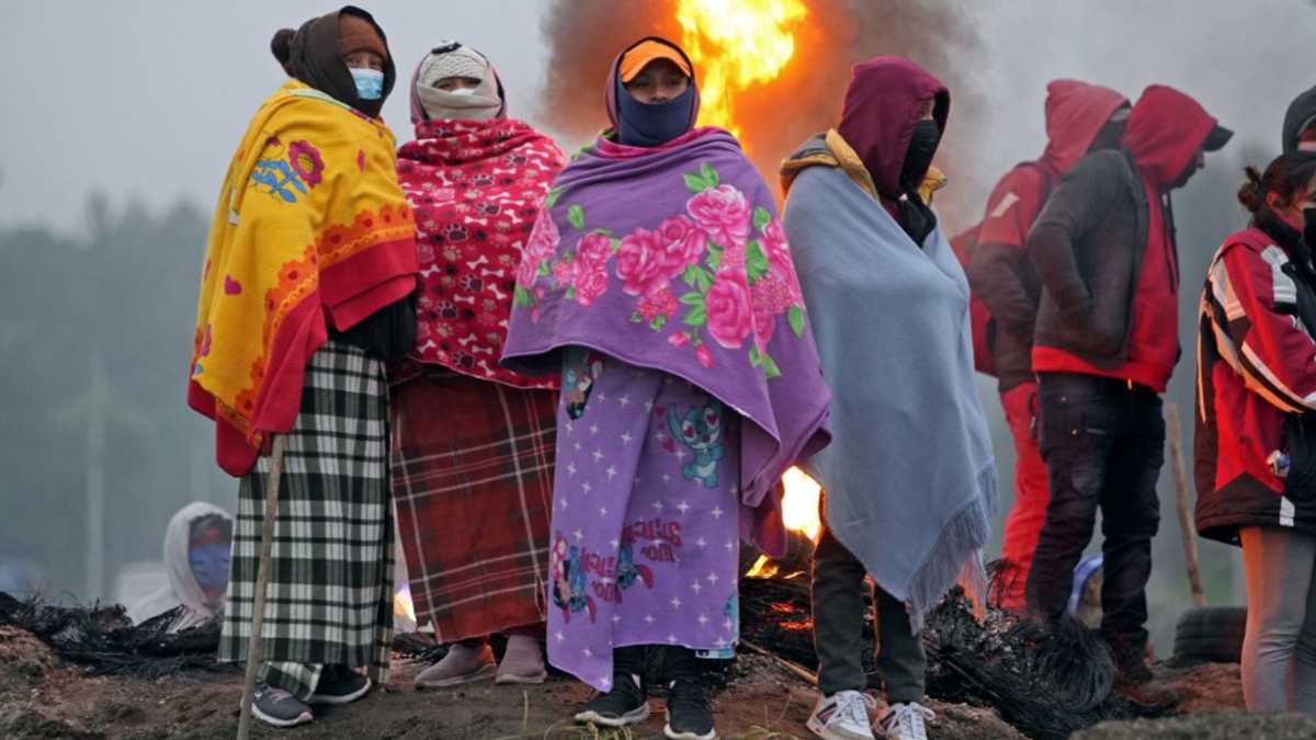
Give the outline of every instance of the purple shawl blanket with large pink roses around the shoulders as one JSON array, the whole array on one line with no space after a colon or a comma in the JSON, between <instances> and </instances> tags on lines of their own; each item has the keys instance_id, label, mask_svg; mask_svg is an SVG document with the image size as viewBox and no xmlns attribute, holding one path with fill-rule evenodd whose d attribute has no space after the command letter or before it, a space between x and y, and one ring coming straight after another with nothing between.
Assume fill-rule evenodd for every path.
<instances>
[{"instance_id":1,"label":"purple shawl blanket with large pink roses around the shoulders","mask_svg":"<svg viewBox=\"0 0 1316 740\"><path fill-rule=\"evenodd\" d=\"M830 392L763 178L729 133L600 138L549 191L517 271L503 362L579 345L670 373L740 413L742 535L780 552L782 473L826 445Z\"/></svg>"}]
</instances>

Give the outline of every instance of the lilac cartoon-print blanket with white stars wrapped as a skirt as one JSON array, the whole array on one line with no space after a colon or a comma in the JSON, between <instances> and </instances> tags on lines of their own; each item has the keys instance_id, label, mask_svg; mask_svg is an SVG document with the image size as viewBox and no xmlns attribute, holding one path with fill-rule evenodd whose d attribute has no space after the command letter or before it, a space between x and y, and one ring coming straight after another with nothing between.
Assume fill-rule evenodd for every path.
<instances>
[{"instance_id":1,"label":"lilac cartoon-print blanket with white stars wrapped as a skirt","mask_svg":"<svg viewBox=\"0 0 1316 740\"><path fill-rule=\"evenodd\" d=\"M732 648L741 417L586 348L565 353L562 375L549 661L607 691L613 648Z\"/></svg>"}]
</instances>

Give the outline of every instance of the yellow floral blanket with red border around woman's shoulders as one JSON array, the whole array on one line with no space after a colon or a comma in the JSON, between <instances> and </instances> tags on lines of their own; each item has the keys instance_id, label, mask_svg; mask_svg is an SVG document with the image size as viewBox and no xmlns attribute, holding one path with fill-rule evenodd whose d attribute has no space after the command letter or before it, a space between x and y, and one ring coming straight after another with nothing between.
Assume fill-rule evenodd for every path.
<instances>
[{"instance_id":1,"label":"yellow floral blanket with red border around woman's shoulders","mask_svg":"<svg viewBox=\"0 0 1316 740\"><path fill-rule=\"evenodd\" d=\"M188 403L220 466L250 470L292 428L307 361L416 286L416 225L383 121L290 80L229 163L211 221Z\"/></svg>"}]
</instances>

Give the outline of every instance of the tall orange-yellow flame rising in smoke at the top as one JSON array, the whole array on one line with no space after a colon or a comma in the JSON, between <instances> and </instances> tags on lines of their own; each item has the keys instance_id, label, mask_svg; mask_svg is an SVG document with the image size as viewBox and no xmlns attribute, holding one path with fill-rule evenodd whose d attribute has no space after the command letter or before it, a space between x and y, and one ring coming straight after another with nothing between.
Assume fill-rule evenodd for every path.
<instances>
[{"instance_id":1,"label":"tall orange-yellow flame rising in smoke at the top","mask_svg":"<svg viewBox=\"0 0 1316 740\"><path fill-rule=\"evenodd\" d=\"M676 0L682 45L704 76L701 124L740 137L737 95L782 74L805 16L803 0Z\"/></svg>"}]
</instances>

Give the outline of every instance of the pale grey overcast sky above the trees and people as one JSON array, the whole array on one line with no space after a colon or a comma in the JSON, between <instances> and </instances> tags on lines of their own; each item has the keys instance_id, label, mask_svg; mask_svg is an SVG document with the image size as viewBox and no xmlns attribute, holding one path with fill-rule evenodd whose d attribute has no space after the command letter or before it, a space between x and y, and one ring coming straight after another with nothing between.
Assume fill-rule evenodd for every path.
<instances>
[{"instance_id":1,"label":"pale grey overcast sky above the trees and people","mask_svg":"<svg viewBox=\"0 0 1316 740\"><path fill-rule=\"evenodd\" d=\"M0 42L11 63L0 75L0 225L39 220L70 230L79 229L93 190L114 204L137 196L161 207L186 198L208 211L249 117L283 79L268 53L270 36L332 8L308 0L5 5ZM970 180L995 179L1041 151L1045 83L1057 76L1101 82L1130 97L1150 82L1167 82L1237 129L1240 142L1259 142L1266 153L1278 146L1288 100L1316 83L1316 9L1308 0L966 5L978 16L980 84L992 101L988 120L974 132L983 140L983 159L975 163L983 172ZM400 141L411 137L405 80L420 55L447 37L495 61L513 115L534 122L534 112L551 104L538 99L546 57L540 16L547 0L366 7L397 58L403 84L384 116ZM1240 151L1233 146L1216 166L1237 166Z\"/></svg>"}]
</instances>

